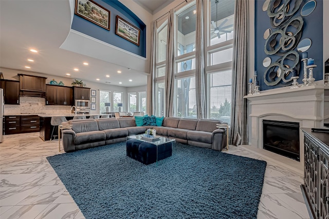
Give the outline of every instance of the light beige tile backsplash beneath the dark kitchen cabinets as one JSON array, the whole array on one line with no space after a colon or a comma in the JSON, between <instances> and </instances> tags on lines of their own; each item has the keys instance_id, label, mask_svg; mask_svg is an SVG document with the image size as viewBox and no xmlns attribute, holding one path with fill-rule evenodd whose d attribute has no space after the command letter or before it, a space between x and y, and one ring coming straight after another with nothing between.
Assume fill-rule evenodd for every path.
<instances>
[{"instance_id":1,"label":"light beige tile backsplash beneath the dark kitchen cabinets","mask_svg":"<svg viewBox=\"0 0 329 219\"><path fill-rule=\"evenodd\" d=\"M71 106L51 106L41 97L20 97L20 105L5 105L4 115L18 115L23 113L67 114L71 113Z\"/></svg>"}]
</instances>

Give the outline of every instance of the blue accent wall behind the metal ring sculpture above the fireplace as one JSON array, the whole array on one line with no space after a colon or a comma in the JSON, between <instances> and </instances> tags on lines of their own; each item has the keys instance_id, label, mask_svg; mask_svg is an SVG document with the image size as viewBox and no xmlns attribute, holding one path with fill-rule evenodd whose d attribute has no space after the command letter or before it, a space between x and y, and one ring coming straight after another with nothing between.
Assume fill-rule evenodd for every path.
<instances>
[{"instance_id":1,"label":"blue accent wall behind the metal ring sculpture above the fireplace","mask_svg":"<svg viewBox=\"0 0 329 219\"><path fill-rule=\"evenodd\" d=\"M282 81L279 82L279 84L275 86L267 86L264 83L264 74L266 71L266 67L263 66L263 59L265 57L271 58L271 63L274 63L277 61L278 58L282 56L278 55L267 55L264 52L264 45L266 39L264 39L263 35L266 29L270 28L272 29L272 32L279 29L273 29L270 25L270 18L267 15L266 11L262 10L263 4L265 0L258 0L255 1L255 70L258 72L258 81L260 85L260 90L269 90L279 87L285 87L290 86L292 81L288 84L281 84ZM303 0L299 10L294 14L294 17L300 16L300 11L304 4L308 2L306 0ZM314 68L313 75L316 81L323 79L323 1L322 0L316 0L316 8L315 10L309 14L306 17L302 17L304 21L303 29L302 29L302 35L300 38L300 41L304 38L309 38L312 41L312 46L306 51L308 52L309 58L314 58L314 64L317 65L316 68ZM291 19L291 18L290 18ZM294 51L297 51L297 48L294 49ZM299 84L302 84L303 79L303 64L301 62L302 59L302 53L298 52L299 57L299 63L300 63L300 70L299 70ZM290 73L291 74L291 73ZM252 79L253 81L253 79Z\"/></svg>"}]
</instances>

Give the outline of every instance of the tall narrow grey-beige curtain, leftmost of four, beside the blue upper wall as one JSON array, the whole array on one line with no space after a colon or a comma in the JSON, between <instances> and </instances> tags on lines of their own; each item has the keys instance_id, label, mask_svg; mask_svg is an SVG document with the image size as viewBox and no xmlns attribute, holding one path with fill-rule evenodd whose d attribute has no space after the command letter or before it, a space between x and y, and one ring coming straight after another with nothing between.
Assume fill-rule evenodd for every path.
<instances>
[{"instance_id":1,"label":"tall narrow grey-beige curtain, leftmost of four, beside the blue upper wall","mask_svg":"<svg viewBox=\"0 0 329 219\"><path fill-rule=\"evenodd\" d=\"M151 70L150 75L148 76L148 109L147 113L149 115L153 115L155 113L155 74L156 74L156 60L155 60L155 53L156 53L156 37L157 37L157 28L156 28L156 21L151 22Z\"/></svg>"}]
</instances>

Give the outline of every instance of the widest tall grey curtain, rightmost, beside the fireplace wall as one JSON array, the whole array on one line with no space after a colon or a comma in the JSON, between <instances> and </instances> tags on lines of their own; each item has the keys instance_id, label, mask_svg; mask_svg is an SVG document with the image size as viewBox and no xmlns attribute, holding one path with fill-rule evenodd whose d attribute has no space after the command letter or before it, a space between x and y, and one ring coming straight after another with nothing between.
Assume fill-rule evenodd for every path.
<instances>
[{"instance_id":1,"label":"widest tall grey curtain, rightmost, beside the fireplace wall","mask_svg":"<svg viewBox=\"0 0 329 219\"><path fill-rule=\"evenodd\" d=\"M232 63L232 109L229 142L248 144L247 95L248 89L248 13L249 1L235 0L234 41Z\"/></svg>"}]
</instances>

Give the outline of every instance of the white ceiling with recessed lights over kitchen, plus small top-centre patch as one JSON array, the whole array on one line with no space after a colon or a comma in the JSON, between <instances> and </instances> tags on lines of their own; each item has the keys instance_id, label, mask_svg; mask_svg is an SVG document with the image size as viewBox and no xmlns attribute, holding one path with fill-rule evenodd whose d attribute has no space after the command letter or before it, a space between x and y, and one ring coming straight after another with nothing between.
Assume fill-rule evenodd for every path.
<instances>
[{"instance_id":1,"label":"white ceiling with recessed lights over kitchen, plus small top-centre patch","mask_svg":"<svg viewBox=\"0 0 329 219\"><path fill-rule=\"evenodd\" d=\"M152 12L172 2L134 1ZM123 87L147 84L147 74L144 72L60 49L70 31L70 19L68 1L0 0L0 67L61 77L70 73L72 79L110 82L111 85ZM39 52L30 52L32 48ZM29 58L34 62L28 62ZM84 66L83 62L89 65ZM74 68L79 71L74 71ZM118 70L122 73L117 73Z\"/></svg>"}]
</instances>

